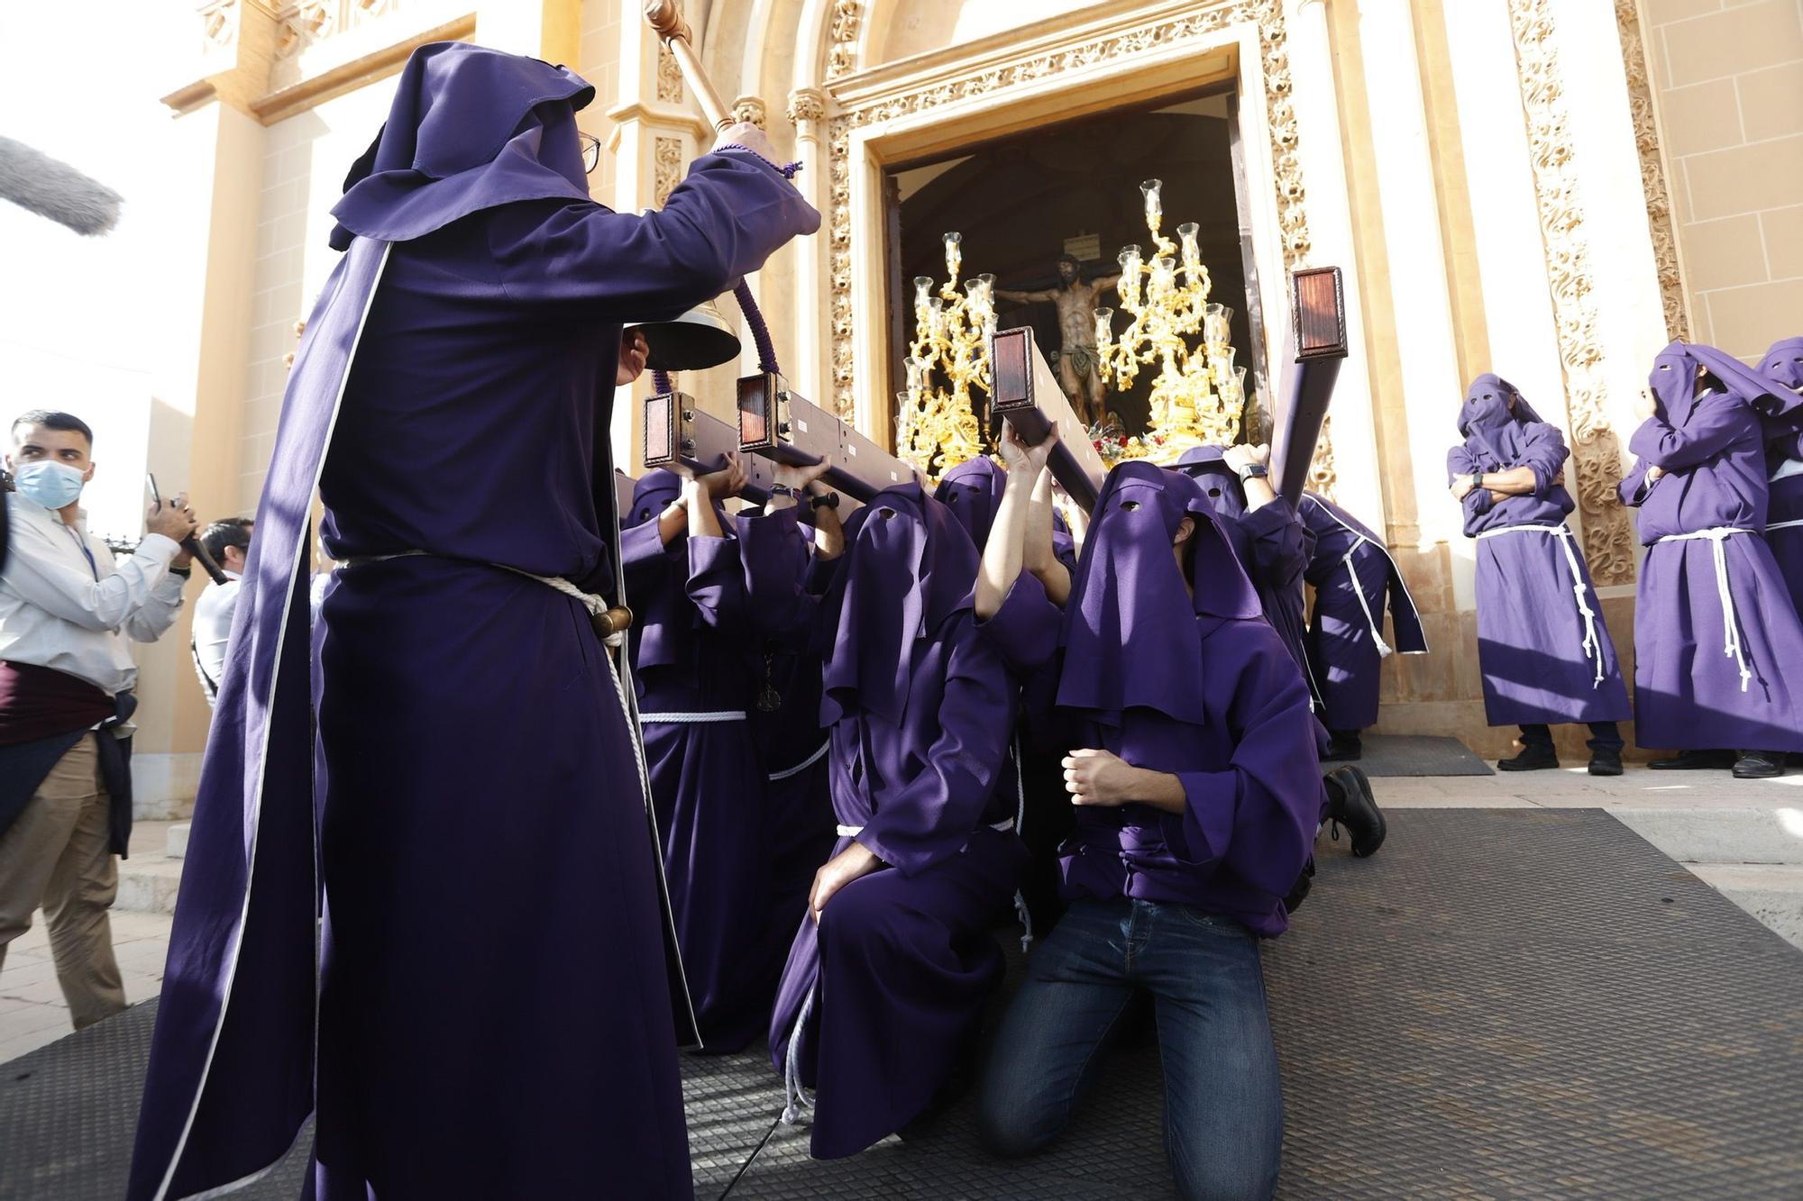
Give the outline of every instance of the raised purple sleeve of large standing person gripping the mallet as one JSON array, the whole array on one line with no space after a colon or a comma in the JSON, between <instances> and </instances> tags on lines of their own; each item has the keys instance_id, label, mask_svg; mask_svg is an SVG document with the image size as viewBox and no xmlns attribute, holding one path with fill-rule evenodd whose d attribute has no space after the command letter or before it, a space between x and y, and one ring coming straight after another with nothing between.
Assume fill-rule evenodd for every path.
<instances>
[{"instance_id":1,"label":"raised purple sleeve of large standing person gripping the mallet","mask_svg":"<svg viewBox=\"0 0 1803 1201\"><path fill-rule=\"evenodd\" d=\"M582 202L503 206L489 222L489 249L516 301L665 321L732 290L777 247L819 227L820 215L773 166L712 153L642 216Z\"/></svg>"}]
</instances>

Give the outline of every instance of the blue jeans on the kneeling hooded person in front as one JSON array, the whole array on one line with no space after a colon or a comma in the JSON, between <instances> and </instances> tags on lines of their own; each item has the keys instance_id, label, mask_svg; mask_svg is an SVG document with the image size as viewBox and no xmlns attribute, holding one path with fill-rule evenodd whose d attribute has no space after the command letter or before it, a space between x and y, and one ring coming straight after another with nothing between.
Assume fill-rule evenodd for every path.
<instances>
[{"instance_id":1,"label":"blue jeans on the kneeling hooded person in front","mask_svg":"<svg viewBox=\"0 0 1803 1201\"><path fill-rule=\"evenodd\" d=\"M1258 940L1188 905L1078 900L1028 959L977 1100L984 1143L1051 1143L1136 990L1152 994L1165 1068L1165 1154L1183 1197L1269 1197L1284 1098Z\"/></svg>"}]
</instances>

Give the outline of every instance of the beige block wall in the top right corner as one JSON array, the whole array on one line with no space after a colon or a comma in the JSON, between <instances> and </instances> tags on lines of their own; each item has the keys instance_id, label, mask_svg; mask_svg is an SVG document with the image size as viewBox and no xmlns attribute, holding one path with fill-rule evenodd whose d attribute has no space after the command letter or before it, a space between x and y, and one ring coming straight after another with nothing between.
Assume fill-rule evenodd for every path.
<instances>
[{"instance_id":1,"label":"beige block wall in the top right corner","mask_svg":"<svg viewBox=\"0 0 1803 1201\"><path fill-rule=\"evenodd\" d=\"M1803 2L1643 0L1693 335L1803 332Z\"/></svg>"}]
</instances>

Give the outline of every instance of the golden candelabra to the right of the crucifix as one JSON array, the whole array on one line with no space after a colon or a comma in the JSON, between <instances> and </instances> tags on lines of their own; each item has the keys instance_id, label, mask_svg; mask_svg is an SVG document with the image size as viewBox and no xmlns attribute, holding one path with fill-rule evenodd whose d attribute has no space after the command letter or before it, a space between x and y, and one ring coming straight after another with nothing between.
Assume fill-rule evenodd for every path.
<instances>
[{"instance_id":1,"label":"golden candelabra to the right of the crucifix","mask_svg":"<svg viewBox=\"0 0 1803 1201\"><path fill-rule=\"evenodd\" d=\"M1231 445L1246 408L1246 368L1233 366L1233 310L1208 299L1210 278L1197 245L1195 222L1177 225L1179 242L1163 233L1161 180L1139 184L1152 254L1138 245L1120 252L1116 290L1132 323L1114 335L1114 310L1096 308L1096 353L1102 379L1118 391L1132 388L1141 366L1159 364L1152 380L1150 431L1145 440L1103 444L1114 458L1167 458L1186 445ZM1179 263L1181 256L1181 263ZM1201 344L1190 337L1201 334Z\"/></svg>"}]
</instances>

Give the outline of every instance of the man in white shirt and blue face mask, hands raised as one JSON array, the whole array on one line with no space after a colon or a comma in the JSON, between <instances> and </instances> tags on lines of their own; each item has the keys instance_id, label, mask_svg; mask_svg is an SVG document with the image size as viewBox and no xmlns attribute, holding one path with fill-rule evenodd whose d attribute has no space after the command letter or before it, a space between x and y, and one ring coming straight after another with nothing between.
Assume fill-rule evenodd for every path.
<instances>
[{"instance_id":1,"label":"man in white shirt and blue face mask, hands raised","mask_svg":"<svg viewBox=\"0 0 1803 1201\"><path fill-rule=\"evenodd\" d=\"M124 1008L106 911L132 833L128 638L155 642L175 622L189 570L178 543L195 530L177 496L114 563L79 507L92 447L69 413L13 422L0 570L0 967L41 903L76 1030Z\"/></svg>"}]
</instances>

